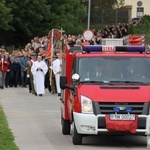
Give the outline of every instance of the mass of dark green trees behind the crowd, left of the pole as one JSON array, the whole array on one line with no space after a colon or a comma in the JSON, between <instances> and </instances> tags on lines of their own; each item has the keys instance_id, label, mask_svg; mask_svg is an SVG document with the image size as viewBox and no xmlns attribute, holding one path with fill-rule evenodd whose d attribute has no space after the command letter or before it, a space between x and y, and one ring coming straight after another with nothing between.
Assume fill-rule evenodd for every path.
<instances>
[{"instance_id":1,"label":"mass of dark green trees behind the crowd, left of the pole","mask_svg":"<svg viewBox=\"0 0 150 150\"><path fill-rule=\"evenodd\" d=\"M1 17L4 21L0 26L0 44L17 47L30 42L34 36L47 35L53 28L81 33L86 15L81 0L3 0L0 8L6 14Z\"/></svg>"}]
</instances>

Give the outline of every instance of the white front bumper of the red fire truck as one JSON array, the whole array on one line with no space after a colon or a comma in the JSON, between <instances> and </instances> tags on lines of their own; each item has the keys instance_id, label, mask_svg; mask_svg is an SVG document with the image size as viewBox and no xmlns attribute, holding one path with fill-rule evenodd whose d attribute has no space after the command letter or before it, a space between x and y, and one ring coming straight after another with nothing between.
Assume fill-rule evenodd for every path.
<instances>
[{"instance_id":1,"label":"white front bumper of the red fire truck","mask_svg":"<svg viewBox=\"0 0 150 150\"><path fill-rule=\"evenodd\" d=\"M94 114L82 114L73 113L74 123L76 125L77 131L80 134L93 134L97 135L101 132L109 132L106 128L99 128L98 120L100 118L105 118L105 115L94 115ZM136 133L150 135L150 115L138 115L138 118L146 119L145 129L136 129Z\"/></svg>"}]
</instances>

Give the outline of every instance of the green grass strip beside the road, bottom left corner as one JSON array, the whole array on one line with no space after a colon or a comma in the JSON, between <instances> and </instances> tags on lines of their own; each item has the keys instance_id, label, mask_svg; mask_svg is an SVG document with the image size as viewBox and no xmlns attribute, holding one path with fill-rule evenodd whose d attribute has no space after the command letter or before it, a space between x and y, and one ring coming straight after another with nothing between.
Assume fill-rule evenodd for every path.
<instances>
[{"instance_id":1,"label":"green grass strip beside the road, bottom left corner","mask_svg":"<svg viewBox=\"0 0 150 150\"><path fill-rule=\"evenodd\" d=\"M8 122L0 106L0 150L19 150L14 143L14 136L8 127Z\"/></svg>"}]
</instances>

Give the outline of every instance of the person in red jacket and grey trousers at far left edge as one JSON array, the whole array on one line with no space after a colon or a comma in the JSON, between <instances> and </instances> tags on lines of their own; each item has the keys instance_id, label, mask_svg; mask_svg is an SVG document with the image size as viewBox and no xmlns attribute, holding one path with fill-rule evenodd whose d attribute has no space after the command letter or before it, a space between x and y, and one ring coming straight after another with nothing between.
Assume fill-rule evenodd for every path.
<instances>
[{"instance_id":1,"label":"person in red jacket and grey trousers at far left edge","mask_svg":"<svg viewBox=\"0 0 150 150\"><path fill-rule=\"evenodd\" d=\"M6 76L6 72L8 70L9 65L10 65L10 62L5 55L5 50L1 49L1 54L0 54L0 88L1 89L4 88L5 76Z\"/></svg>"}]
</instances>

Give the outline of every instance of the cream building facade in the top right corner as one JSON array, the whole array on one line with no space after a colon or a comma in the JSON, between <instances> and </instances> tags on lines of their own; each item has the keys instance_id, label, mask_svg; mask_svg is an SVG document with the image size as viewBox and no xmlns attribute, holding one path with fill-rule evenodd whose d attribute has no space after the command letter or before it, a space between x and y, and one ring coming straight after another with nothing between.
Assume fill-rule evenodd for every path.
<instances>
[{"instance_id":1,"label":"cream building facade in the top right corner","mask_svg":"<svg viewBox=\"0 0 150 150\"><path fill-rule=\"evenodd\" d=\"M124 0L129 10L129 18L150 15L150 0Z\"/></svg>"}]
</instances>

